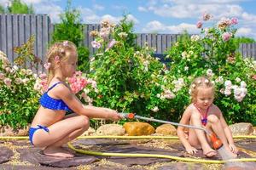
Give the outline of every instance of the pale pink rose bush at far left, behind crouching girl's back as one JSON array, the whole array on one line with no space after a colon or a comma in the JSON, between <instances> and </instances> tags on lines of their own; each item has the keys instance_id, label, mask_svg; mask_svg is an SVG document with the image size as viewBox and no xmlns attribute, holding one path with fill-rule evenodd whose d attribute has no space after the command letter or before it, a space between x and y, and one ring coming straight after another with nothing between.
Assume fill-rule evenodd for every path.
<instances>
[{"instance_id":1,"label":"pale pink rose bush at far left, behind crouching girl's back","mask_svg":"<svg viewBox=\"0 0 256 170\"><path fill-rule=\"evenodd\" d=\"M0 125L25 127L38 109L38 93L34 90L37 75L30 69L11 65L0 54Z\"/></svg>"}]
</instances>

